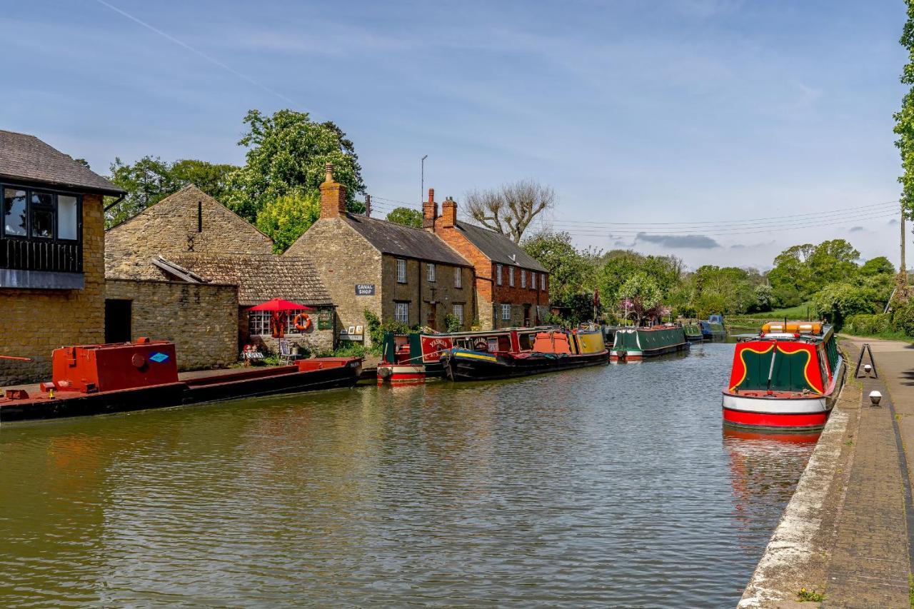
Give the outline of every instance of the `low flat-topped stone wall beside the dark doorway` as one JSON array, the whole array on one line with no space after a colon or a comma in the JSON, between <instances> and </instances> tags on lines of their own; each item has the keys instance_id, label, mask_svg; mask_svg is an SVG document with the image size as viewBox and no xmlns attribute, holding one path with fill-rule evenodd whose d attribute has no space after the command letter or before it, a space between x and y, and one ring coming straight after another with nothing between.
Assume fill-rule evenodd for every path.
<instances>
[{"instance_id":1,"label":"low flat-topped stone wall beside the dark doorway","mask_svg":"<svg viewBox=\"0 0 914 609\"><path fill-rule=\"evenodd\" d=\"M224 368L238 360L238 287L109 279L105 295L132 301L131 338L175 343L178 369Z\"/></svg>"}]
</instances>

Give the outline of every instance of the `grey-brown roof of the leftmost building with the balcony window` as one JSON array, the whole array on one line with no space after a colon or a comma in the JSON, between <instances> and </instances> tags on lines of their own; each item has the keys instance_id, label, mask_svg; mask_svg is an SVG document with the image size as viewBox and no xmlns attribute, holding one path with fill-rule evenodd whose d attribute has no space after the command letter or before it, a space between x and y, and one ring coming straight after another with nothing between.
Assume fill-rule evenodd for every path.
<instances>
[{"instance_id":1,"label":"grey-brown roof of the leftmost building with the balcony window","mask_svg":"<svg viewBox=\"0 0 914 609\"><path fill-rule=\"evenodd\" d=\"M34 135L0 130L0 177L118 196L124 191Z\"/></svg>"}]
</instances>

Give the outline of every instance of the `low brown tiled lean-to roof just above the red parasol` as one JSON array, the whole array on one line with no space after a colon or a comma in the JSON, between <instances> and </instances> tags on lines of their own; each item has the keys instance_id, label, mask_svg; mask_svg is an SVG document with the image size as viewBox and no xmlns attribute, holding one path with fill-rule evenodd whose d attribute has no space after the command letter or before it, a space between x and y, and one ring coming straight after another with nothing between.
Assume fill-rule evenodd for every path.
<instances>
[{"instance_id":1,"label":"low brown tiled lean-to roof just above the red parasol","mask_svg":"<svg viewBox=\"0 0 914 609\"><path fill-rule=\"evenodd\" d=\"M302 305L333 305L314 262L301 256L274 254L181 254L159 256L154 264L187 282L238 285L241 306L283 298ZM168 268L170 267L170 268Z\"/></svg>"}]
</instances>

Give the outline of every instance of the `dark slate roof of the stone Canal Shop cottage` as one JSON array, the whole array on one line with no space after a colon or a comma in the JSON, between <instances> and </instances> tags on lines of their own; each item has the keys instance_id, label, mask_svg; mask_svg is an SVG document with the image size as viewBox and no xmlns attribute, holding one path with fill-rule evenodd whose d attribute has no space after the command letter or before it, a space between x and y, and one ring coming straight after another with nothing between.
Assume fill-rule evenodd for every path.
<instances>
[{"instance_id":1,"label":"dark slate roof of the stone Canal Shop cottage","mask_svg":"<svg viewBox=\"0 0 914 609\"><path fill-rule=\"evenodd\" d=\"M381 253L454 266L472 266L452 250L450 245L428 230L357 214L346 214L343 218Z\"/></svg>"}]
</instances>

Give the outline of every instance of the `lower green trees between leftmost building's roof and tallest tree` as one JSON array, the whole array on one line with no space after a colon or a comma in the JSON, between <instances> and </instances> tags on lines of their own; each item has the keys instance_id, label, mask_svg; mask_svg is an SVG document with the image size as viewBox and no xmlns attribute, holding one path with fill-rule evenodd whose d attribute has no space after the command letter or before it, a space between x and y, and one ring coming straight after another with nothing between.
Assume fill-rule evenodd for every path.
<instances>
[{"instance_id":1,"label":"lower green trees between leftmost building's roof and tallest tree","mask_svg":"<svg viewBox=\"0 0 914 609\"><path fill-rule=\"evenodd\" d=\"M111 227L133 218L143 209L190 184L224 203L228 195L228 176L236 169L238 167L233 165L214 165L195 159L168 163L152 155L143 156L132 165L115 158L110 168L110 179L112 184L126 190L127 195L106 213L106 225Z\"/></svg>"}]
</instances>

